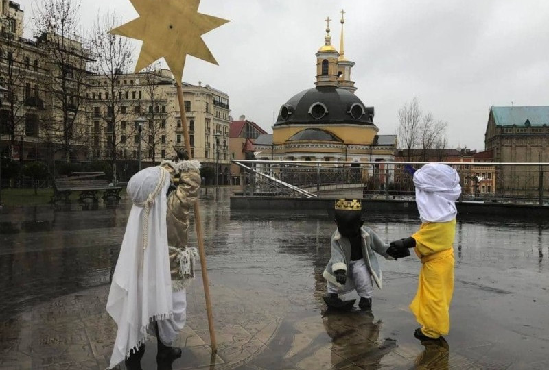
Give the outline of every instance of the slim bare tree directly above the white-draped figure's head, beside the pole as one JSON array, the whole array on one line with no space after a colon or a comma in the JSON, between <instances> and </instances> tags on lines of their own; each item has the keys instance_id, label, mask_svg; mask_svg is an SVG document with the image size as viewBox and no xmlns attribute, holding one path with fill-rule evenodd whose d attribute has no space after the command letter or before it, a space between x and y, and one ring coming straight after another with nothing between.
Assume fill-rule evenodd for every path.
<instances>
[{"instance_id":1,"label":"slim bare tree directly above the white-draped figure's head, beside the pole","mask_svg":"<svg viewBox=\"0 0 549 370\"><path fill-rule=\"evenodd\" d=\"M143 141L152 154L150 157L154 166L159 147L166 144L167 100L162 96L159 88L165 80L161 75L160 64L148 66L142 73L141 79L148 98L148 125L143 127Z\"/></svg>"}]
</instances>

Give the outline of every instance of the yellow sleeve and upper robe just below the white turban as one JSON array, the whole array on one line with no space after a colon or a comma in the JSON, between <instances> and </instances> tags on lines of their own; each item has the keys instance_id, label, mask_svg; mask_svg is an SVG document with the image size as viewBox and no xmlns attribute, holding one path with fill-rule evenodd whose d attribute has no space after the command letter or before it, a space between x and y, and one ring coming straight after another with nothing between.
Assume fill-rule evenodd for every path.
<instances>
[{"instance_id":1,"label":"yellow sleeve and upper robe just below the white turban","mask_svg":"<svg viewBox=\"0 0 549 370\"><path fill-rule=\"evenodd\" d=\"M412 235L418 256L429 256L452 248L456 236L456 219L448 222L425 222Z\"/></svg>"}]
</instances>

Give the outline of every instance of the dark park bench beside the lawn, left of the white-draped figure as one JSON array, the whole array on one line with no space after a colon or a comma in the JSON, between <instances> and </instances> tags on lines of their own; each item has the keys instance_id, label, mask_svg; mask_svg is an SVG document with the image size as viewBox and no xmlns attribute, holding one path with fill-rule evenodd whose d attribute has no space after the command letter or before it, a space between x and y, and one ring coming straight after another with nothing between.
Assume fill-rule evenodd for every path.
<instances>
[{"instance_id":1,"label":"dark park bench beside the lawn, left of the white-draped figure","mask_svg":"<svg viewBox=\"0 0 549 370\"><path fill-rule=\"evenodd\" d=\"M103 192L104 201L119 201L119 186L109 186L102 172L73 172L71 176L54 178L54 195L51 196L51 203L65 201L69 203L69 196L73 192L80 192L79 199L82 203L99 202L98 193Z\"/></svg>"}]
</instances>

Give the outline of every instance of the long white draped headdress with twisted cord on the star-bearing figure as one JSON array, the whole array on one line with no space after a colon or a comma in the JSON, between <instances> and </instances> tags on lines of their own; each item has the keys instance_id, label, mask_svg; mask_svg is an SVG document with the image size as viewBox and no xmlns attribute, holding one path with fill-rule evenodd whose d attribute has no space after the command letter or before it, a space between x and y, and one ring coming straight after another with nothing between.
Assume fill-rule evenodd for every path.
<instances>
[{"instance_id":1,"label":"long white draped headdress with twisted cord on the star-bearing figure","mask_svg":"<svg viewBox=\"0 0 549 370\"><path fill-rule=\"evenodd\" d=\"M128 182L133 206L106 306L118 325L109 369L145 342L152 321L174 312L166 230L169 185L170 175L161 167L143 169Z\"/></svg>"}]
</instances>

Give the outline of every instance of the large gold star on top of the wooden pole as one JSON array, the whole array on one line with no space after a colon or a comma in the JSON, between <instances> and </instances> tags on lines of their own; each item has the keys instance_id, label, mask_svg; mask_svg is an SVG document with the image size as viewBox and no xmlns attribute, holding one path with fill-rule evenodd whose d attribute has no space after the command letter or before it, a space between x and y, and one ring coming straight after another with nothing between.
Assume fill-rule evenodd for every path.
<instances>
[{"instance_id":1,"label":"large gold star on top of the wooden pole","mask_svg":"<svg viewBox=\"0 0 549 370\"><path fill-rule=\"evenodd\" d=\"M202 35L229 22L200 14L200 0L130 0L139 18L110 30L143 41L135 72L164 57L178 84L187 54L218 64Z\"/></svg>"}]
</instances>

